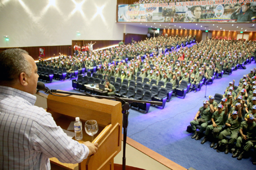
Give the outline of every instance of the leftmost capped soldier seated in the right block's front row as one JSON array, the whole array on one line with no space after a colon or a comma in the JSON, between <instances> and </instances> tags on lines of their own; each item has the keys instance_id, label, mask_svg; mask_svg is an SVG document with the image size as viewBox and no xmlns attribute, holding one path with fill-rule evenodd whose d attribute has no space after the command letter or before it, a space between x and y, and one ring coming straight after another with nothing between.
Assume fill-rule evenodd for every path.
<instances>
[{"instance_id":1,"label":"leftmost capped soldier seated in the right block's front row","mask_svg":"<svg viewBox=\"0 0 256 170\"><path fill-rule=\"evenodd\" d=\"M196 140L199 140L202 137L204 130L207 128L208 121L214 112L212 105L209 106L209 102L207 100L204 100L203 104L204 106L199 108L194 120L190 122L192 130L195 131L192 139L196 138ZM198 118L199 116L200 118ZM196 125L201 125L199 133L196 131Z\"/></svg>"}]
</instances>

